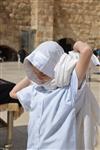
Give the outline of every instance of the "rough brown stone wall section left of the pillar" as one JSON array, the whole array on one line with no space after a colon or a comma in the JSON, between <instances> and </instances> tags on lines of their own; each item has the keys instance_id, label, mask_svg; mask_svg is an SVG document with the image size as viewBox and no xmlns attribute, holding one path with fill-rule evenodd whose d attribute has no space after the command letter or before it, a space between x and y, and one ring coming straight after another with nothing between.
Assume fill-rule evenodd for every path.
<instances>
[{"instance_id":1,"label":"rough brown stone wall section left of the pillar","mask_svg":"<svg viewBox=\"0 0 100 150\"><path fill-rule=\"evenodd\" d=\"M30 28L31 9L29 0L0 1L0 45L15 50L20 48L21 30Z\"/></svg>"}]
</instances>

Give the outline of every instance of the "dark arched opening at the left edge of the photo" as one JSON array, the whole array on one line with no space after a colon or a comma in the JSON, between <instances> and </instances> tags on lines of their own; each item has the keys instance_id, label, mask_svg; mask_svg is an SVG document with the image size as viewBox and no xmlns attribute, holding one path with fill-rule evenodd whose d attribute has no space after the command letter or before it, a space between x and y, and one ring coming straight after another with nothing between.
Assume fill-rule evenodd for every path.
<instances>
[{"instance_id":1,"label":"dark arched opening at the left edge of the photo","mask_svg":"<svg viewBox=\"0 0 100 150\"><path fill-rule=\"evenodd\" d=\"M0 61L17 61L17 52L5 45L0 45Z\"/></svg>"}]
</instances>

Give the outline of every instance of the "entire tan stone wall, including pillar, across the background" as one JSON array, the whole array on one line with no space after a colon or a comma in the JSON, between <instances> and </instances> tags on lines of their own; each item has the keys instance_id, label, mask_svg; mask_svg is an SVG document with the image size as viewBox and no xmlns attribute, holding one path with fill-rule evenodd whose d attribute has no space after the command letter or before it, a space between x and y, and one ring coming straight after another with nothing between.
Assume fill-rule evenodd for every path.
<instances>
[{"instance_id":1,"label":"entire tan stone wall, including pillar, across the background","mask_svg":"<svg viewBox=\"0 0 100 150\"><path fill-rule=\"evenodd\" d=\"M0 0L0 45L18 50L21 31L31 44L71 38L100 48L99 0Z\"/></svg>"}]
</instances>

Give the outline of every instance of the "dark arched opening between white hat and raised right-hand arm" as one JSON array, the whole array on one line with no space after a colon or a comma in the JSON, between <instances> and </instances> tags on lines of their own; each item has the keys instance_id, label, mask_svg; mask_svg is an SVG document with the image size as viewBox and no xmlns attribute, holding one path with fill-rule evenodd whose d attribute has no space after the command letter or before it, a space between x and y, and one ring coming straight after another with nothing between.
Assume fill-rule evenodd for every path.
<instances>
[{"instance_id":1,"label":"dark arched opening between white hat and raised right-hand arm","mask_svg":"<svg viewBox=\"0 0 100 150\"><path fill-rule=\"evenodd\" d=\"M73 50L73 45L75 43L75 41L71 38L62 38L57 40L57 42L66 53Z\"/></svg>"}]
</instances>

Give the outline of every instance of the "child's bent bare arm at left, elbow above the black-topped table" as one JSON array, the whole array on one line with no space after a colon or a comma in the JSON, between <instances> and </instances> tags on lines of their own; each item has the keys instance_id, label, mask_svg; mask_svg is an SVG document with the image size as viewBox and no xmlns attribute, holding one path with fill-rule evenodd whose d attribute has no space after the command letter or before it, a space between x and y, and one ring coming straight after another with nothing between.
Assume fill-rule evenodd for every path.
<instances>
[{"instance_id":1,"label":"child's bent bare arm at left, elbow above the black-topped table","mask_svg":"<svg viewBox=\"0 0 100 150\"><path fill-rule=\"evenodd\" d=\"M14 98L14 99L17 99L17 95L16 93L18 91L20 91L21 89L29 86L31 84L31 81L25 77L24 79L22 79L20 82L18 82L15 87L10 91L9 95L10 97Z\"/></svg>"}]
</instances>

